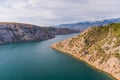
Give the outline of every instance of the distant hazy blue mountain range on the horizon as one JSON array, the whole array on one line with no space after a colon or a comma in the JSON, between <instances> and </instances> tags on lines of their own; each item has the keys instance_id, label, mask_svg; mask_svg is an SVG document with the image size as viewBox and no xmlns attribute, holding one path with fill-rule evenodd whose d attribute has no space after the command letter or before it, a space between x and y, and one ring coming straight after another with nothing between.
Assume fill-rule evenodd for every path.
<instances>
[{"instance_id":1,"label":"distant hazy blue mountain range on the horizon","mask_svg":"<svg viewBox=\"0 0 120 80\"><path fill-rule=\"evenodd\" d=\"M70 28L70 29L75 29L75 30L85 30L88 27L92 26L101 26L101 25L107 25L111 23L118 23L120 22L120 18L114 18L114 19L105 19L102 21L95 21L95 22L78 22L78 23L73 23L73 24L60 24L54 27L57 28Z\"/></svg>"}]
</instances>

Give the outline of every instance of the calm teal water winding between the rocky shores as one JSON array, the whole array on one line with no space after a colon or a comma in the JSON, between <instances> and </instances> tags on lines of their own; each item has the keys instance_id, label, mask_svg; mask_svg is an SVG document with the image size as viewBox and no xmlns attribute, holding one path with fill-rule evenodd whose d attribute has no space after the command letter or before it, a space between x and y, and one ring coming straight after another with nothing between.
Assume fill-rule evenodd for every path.
<instances>
[{"instance_id":1,"label":"calm teal water winding between the rocky shores","mask_svg":"<svg viewBox=\"0 0 120 80\"><path fill-rule=\"evenodd\" d=\"M0 80L112 80L49 46L72 35L42 42L0 45Z\"/></svg>"}]
</instances>

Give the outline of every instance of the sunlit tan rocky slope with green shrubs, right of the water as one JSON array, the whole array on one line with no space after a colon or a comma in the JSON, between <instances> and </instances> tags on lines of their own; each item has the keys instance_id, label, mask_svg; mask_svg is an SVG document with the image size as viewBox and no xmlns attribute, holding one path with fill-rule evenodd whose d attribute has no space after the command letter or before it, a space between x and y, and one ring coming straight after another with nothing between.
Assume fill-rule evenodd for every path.
<instances>
[{"instance_id":1,"label":"sunlit tan rocky slope with green shrubs, right of the water","mask_svg":"<svg viewBox=\"0 0 120 80\"><path fill-rule=\"evenodd\" d=\"M52 48L105 71L120 80L120 23L91 27Z\"/></svg>"}]
</instances>

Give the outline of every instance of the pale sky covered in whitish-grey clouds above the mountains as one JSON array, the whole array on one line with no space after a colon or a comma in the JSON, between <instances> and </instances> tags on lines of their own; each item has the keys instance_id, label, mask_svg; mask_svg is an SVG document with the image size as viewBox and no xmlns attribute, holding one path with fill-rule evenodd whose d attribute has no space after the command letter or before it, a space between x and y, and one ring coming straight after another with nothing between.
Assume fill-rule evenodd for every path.
<instances>
[{"instance_id":1,"label":"pale sky covered in whitish-grey clouds above the mountains","mask_svg":"<svg viewBox=\"0 0 120 80\"><path fill-rule=\"evenodd\" d=\"M0 22L41 26L120 17L120 0L0 0Z\"/></svg>"}]
</instances>

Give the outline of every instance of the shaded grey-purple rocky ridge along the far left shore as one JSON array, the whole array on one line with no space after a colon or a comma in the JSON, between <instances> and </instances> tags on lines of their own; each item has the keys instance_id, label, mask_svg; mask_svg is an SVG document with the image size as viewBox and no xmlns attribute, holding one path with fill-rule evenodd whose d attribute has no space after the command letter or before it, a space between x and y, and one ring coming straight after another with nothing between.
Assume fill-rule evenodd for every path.
<instances>
[{"instance_id":1,"label":"shaded grey-purple rocky ridge along the far left shore","mask_svg":"<svg viewBox=\"0 0 120 80\"><path fill-rule=\"evenodd\" d=\"M79 31L66 28L40 27L22 23L0 23L0 44L27 41L42 41L54 38L57 34L70 34Z\"/></svg>"}]
</instances>

